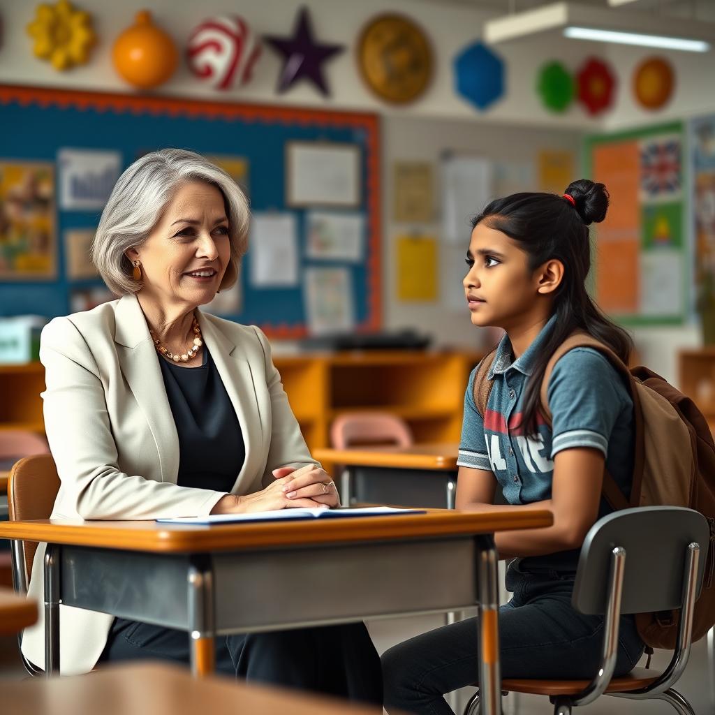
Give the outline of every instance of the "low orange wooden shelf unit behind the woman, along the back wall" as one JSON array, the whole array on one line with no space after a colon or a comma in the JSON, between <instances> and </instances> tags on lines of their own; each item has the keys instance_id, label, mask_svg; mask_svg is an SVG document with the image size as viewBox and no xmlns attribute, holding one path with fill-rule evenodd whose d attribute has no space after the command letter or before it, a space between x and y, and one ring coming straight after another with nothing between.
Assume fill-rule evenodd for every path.
<instances>
[{"instance_id":1,"label":"low orange wooden shelf unit behind the woman, along the back wall","mask_svg":"<svg viewBox=\"0 0 715 715\"><path fill-rule=\"evenodd\" d=\"M337 415L399 415L420 442L458 442L464 390L480 352L355 351L275 355L290 406L308 446L330 445ZM44 432L44 368L0 365L0 429Z\"/></svg>"}]
</instances>

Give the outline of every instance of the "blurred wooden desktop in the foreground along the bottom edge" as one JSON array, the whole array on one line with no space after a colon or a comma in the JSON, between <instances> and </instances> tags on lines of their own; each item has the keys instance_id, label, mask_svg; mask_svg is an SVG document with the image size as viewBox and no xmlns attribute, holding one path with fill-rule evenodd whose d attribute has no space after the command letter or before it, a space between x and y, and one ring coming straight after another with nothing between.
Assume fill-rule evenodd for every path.
<instances>
[{"instance_id":1,"label":"blurred wooden desktop in the foreground along the bottom edge","mask_svg":"<svg viewBox=\"0 0 715 715\"><path fill-rule=\"evenodd\" d=\"M2 684L12 715L378 715L376 708L248 685L229 678L192 678L180 666L142 663L88 676Z\"/></svg>"}]
</instances>

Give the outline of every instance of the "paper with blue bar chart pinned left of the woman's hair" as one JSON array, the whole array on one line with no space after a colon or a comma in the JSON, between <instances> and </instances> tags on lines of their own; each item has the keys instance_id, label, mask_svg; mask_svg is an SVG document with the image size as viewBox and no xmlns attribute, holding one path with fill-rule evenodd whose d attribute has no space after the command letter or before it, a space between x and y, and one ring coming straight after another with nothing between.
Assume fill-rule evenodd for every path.
<instances>
[{"instance_id":1,"label":"paper with blue bar chart pinned left of the woman's hair","mask_svg":"<svg viewBox=\"0 0 715 715\"><path fill-rule=\"evenodd\" d=\"M60 149L59 207L64 211L101 211L119 179L119 152Z\"/></svg>"}]
</instances>

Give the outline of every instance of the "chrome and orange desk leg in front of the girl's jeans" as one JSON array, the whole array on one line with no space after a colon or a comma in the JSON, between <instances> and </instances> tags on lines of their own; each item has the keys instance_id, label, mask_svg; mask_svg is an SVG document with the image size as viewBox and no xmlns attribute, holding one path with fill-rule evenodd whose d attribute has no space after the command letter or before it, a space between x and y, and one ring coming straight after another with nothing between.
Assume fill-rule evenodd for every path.
<instances>
[{"instance_id":1,"label":"chrome and orange desk leg in front of the girl's jeans","mask_svg":"<svg viewBox=\"0 0 715 715\"><path fill-rule=\"evenodd\" d=\"M480 628L480 714L501 715L498 554L491 536L478 537L477 598Z\"/></svg>"}]
</instances>

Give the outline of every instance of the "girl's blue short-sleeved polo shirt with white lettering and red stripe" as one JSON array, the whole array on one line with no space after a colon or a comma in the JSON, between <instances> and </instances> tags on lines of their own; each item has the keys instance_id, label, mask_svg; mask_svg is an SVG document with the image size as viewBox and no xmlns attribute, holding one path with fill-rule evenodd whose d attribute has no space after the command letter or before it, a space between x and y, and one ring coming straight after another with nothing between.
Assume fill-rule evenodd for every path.
<instances>
[{"instance_id":1,"label":"girl's blue short-sleeved polo shirt with white lettering and red stripe","mask_svg":"<svg viewBox=\"0 0 715 715\"><path fill-rule=\"evenodd\" d=\"M526 385L536 357L553 329L551 317L536 340L514 360L507 335L498 345L488 373L493 380L483 417L474 403L470 375L464 397L464 419L458 465L493 472L509 504L551 498L553 458L561 450L589 447L606 458L606 468L628 497L633 472L633 401L620 375L597 350L576 347L554 365L548 385L551 428L539 415L538 434L521 425ZM578 480L578 474L573 475ZM599 516L609 513L601 500ZM578 551L521 559L521 568L575 571Z\"/></svg>"}]
</instances>

